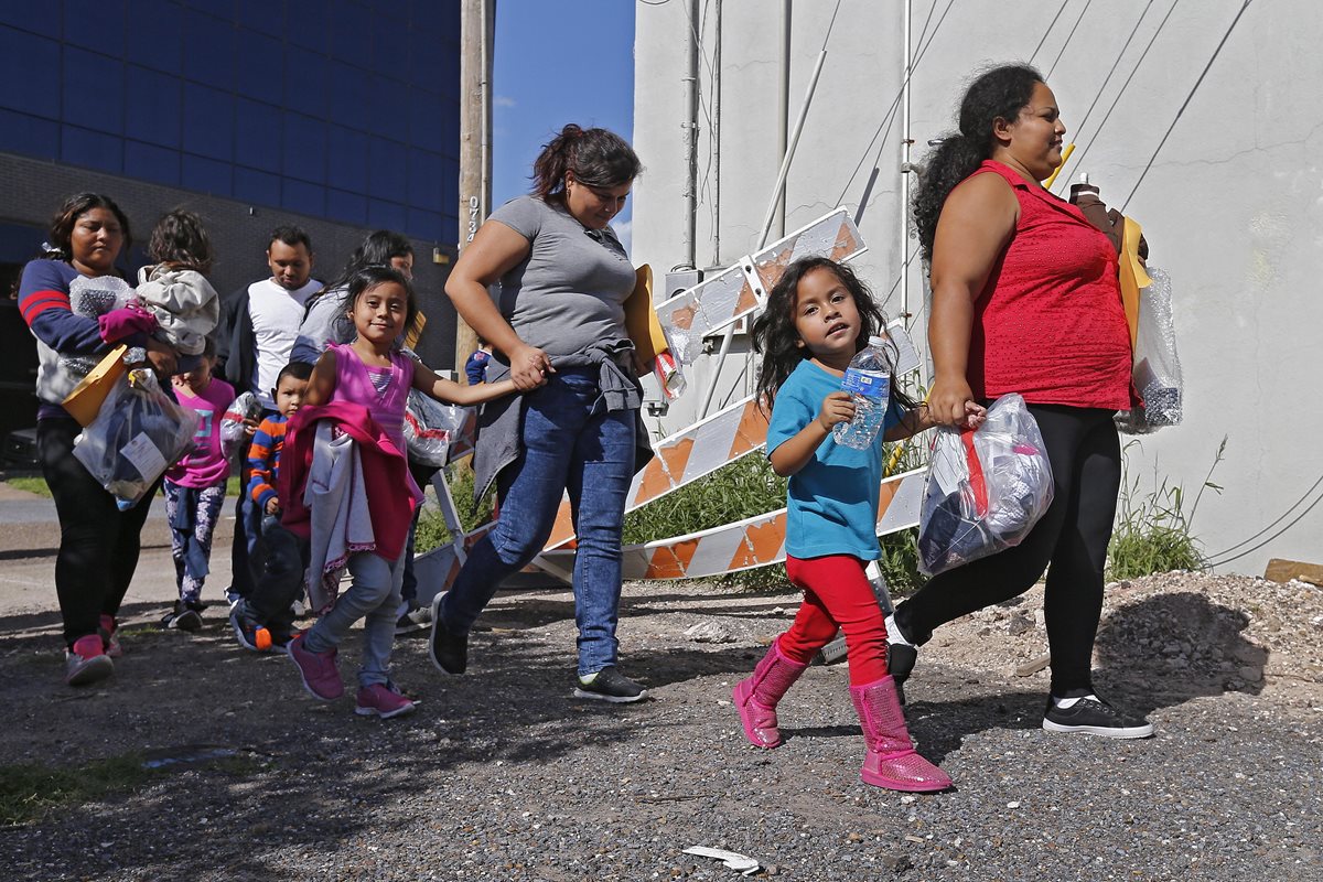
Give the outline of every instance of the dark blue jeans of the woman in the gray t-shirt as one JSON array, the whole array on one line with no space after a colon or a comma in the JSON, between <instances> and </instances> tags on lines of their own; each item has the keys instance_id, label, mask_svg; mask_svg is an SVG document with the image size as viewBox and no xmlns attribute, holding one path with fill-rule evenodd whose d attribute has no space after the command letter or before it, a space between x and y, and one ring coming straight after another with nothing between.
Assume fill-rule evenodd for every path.
<instances>
[{"instance_id":1,"label":"dark blue jeans of the woman in the gray t-shirt","mask_svg":"<svg viewBox=\"0 0 1323 882\"><path fill-rule=\"evenodd\" d=\"M620 608L620 532L634 477L632 410L607 411L595 368L570 368L525 394L524 452L501 471L500 518L474 546L441 606L441 624L468 633L496 588L546 545L569 491L578 554L574 623L578 673L615 664Z\"/></svg>"}]
</instances>

